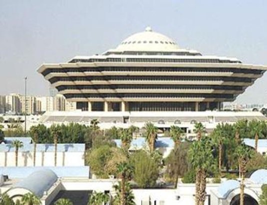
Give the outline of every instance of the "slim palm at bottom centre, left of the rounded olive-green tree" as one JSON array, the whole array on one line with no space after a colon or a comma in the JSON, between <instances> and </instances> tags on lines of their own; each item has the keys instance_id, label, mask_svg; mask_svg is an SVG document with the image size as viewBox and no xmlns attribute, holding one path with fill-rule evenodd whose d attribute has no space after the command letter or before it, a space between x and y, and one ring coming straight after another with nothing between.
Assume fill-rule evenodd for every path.
<instances>
[{"instance_id":1,"label":"slim palm at bottom centre, left of the rounded olive-green tree","mask_svg":"<svg viewBox=\"0 0 267 205\"><path fill-rule=\"evenodd\" d=\"M121 162L117 165L118 177L120 181L120 205L126 205L126 183L130 180L132 175L132 167L126 163Z\"/></svg>"}]
</instances>

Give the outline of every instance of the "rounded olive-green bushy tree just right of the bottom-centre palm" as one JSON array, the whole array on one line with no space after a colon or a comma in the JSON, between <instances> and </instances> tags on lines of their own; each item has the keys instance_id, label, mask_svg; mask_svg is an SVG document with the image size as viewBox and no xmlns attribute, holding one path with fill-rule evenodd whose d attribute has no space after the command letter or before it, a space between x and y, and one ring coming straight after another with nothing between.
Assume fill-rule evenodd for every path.
<instances>
[{"instance_id":1,"label":"rounded olive-green bushy tree just right of the bottom-centre palm","mask_svg":"<svg viewBox=\"0 0 267 205\"><path fill-rule=\"evenodd\" d=\"M154 187L159 175L156 160L144 150L139 150L130 156L133 169L133 180L140 188Z\"/></svg>"}]
</instances>

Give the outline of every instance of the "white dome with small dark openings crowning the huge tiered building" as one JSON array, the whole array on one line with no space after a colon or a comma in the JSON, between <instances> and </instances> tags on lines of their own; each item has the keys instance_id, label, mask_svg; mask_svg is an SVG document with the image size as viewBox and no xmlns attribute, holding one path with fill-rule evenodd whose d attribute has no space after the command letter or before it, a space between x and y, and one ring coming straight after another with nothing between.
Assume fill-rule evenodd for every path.
<instances>
[{"instance_id":1,"label":"white dome with small dark openings crowning the huge tiered building","mask_svg":"<svg viewBox=\"0 0 267 205\"><path fill-rule=\"evenodd\" d=\"M126 38L115 50L175 52L179 50L179 47L172 39L153 32L150 27L147 27L144 32L136 33Z\"/></svg>"}]
</instances>

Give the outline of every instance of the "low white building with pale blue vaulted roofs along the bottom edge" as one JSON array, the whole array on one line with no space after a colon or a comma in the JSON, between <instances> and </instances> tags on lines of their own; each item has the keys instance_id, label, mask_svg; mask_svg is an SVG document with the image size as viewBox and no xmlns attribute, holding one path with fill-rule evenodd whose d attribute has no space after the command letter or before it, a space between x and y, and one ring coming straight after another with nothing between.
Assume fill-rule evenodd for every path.
<instances>
[{"instance_id":1,"label":"low white building with pale blue vaulted roofs along the bottom edge","mask_svg":"<svg viewBox=\"0 0 267 205\"><path fill-rule=\"evenodd\" d=\"M53 169L52 169L53 168ZM101 191L114 195L113 185L116 179L89 179L88 167L38 168L25 174L18 174L25 169L1 170L5 176L9 172L9 180L0 186L0 192L6 192L16 199L21 194L32 192L40 197L42 205L52 205L60 197L69 198L73 204L86 205L88 194L92 191ZM80 171L79 171L80 170ZM14 173L16 172L16 173ZM61 174L58 174L61 173ZM2 178L2 177L1 177ZM4 177L3 177L4 178ZM261 194L261 185L267 183L267 170L255 171L245 179L244 204L258 205ZM207 183L205 205L238 205L240 182L238 180L225 180L222 183ZM184 205L194 204L195 184L179 182L177 188L132 189L136 205Z\"/></svg>"}]
</instances>

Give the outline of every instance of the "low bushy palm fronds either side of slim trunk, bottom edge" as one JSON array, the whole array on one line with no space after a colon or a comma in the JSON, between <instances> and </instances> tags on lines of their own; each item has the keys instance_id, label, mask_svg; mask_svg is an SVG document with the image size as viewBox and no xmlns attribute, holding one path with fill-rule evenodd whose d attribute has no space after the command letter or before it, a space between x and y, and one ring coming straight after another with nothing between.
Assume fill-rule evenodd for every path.
<instances>
[{"instance_id":1,"label":"low bushy palm fronds either side of slim trunk, bottom edge","mask_svg":"<svg viewBox=\"0 0 267 205\"><path fill-rule=\"evenodd\" d=\"M112 204L114 205L120 205L120 197L121 197L121 183L118 182L118 184L113 186L115 188L116 195L114 199L112 200ZM129 182L125 183L125 204L127 205L135 205L134 202L134 195L130 189L130 184Z\"/></svg>"}]
</instances>

